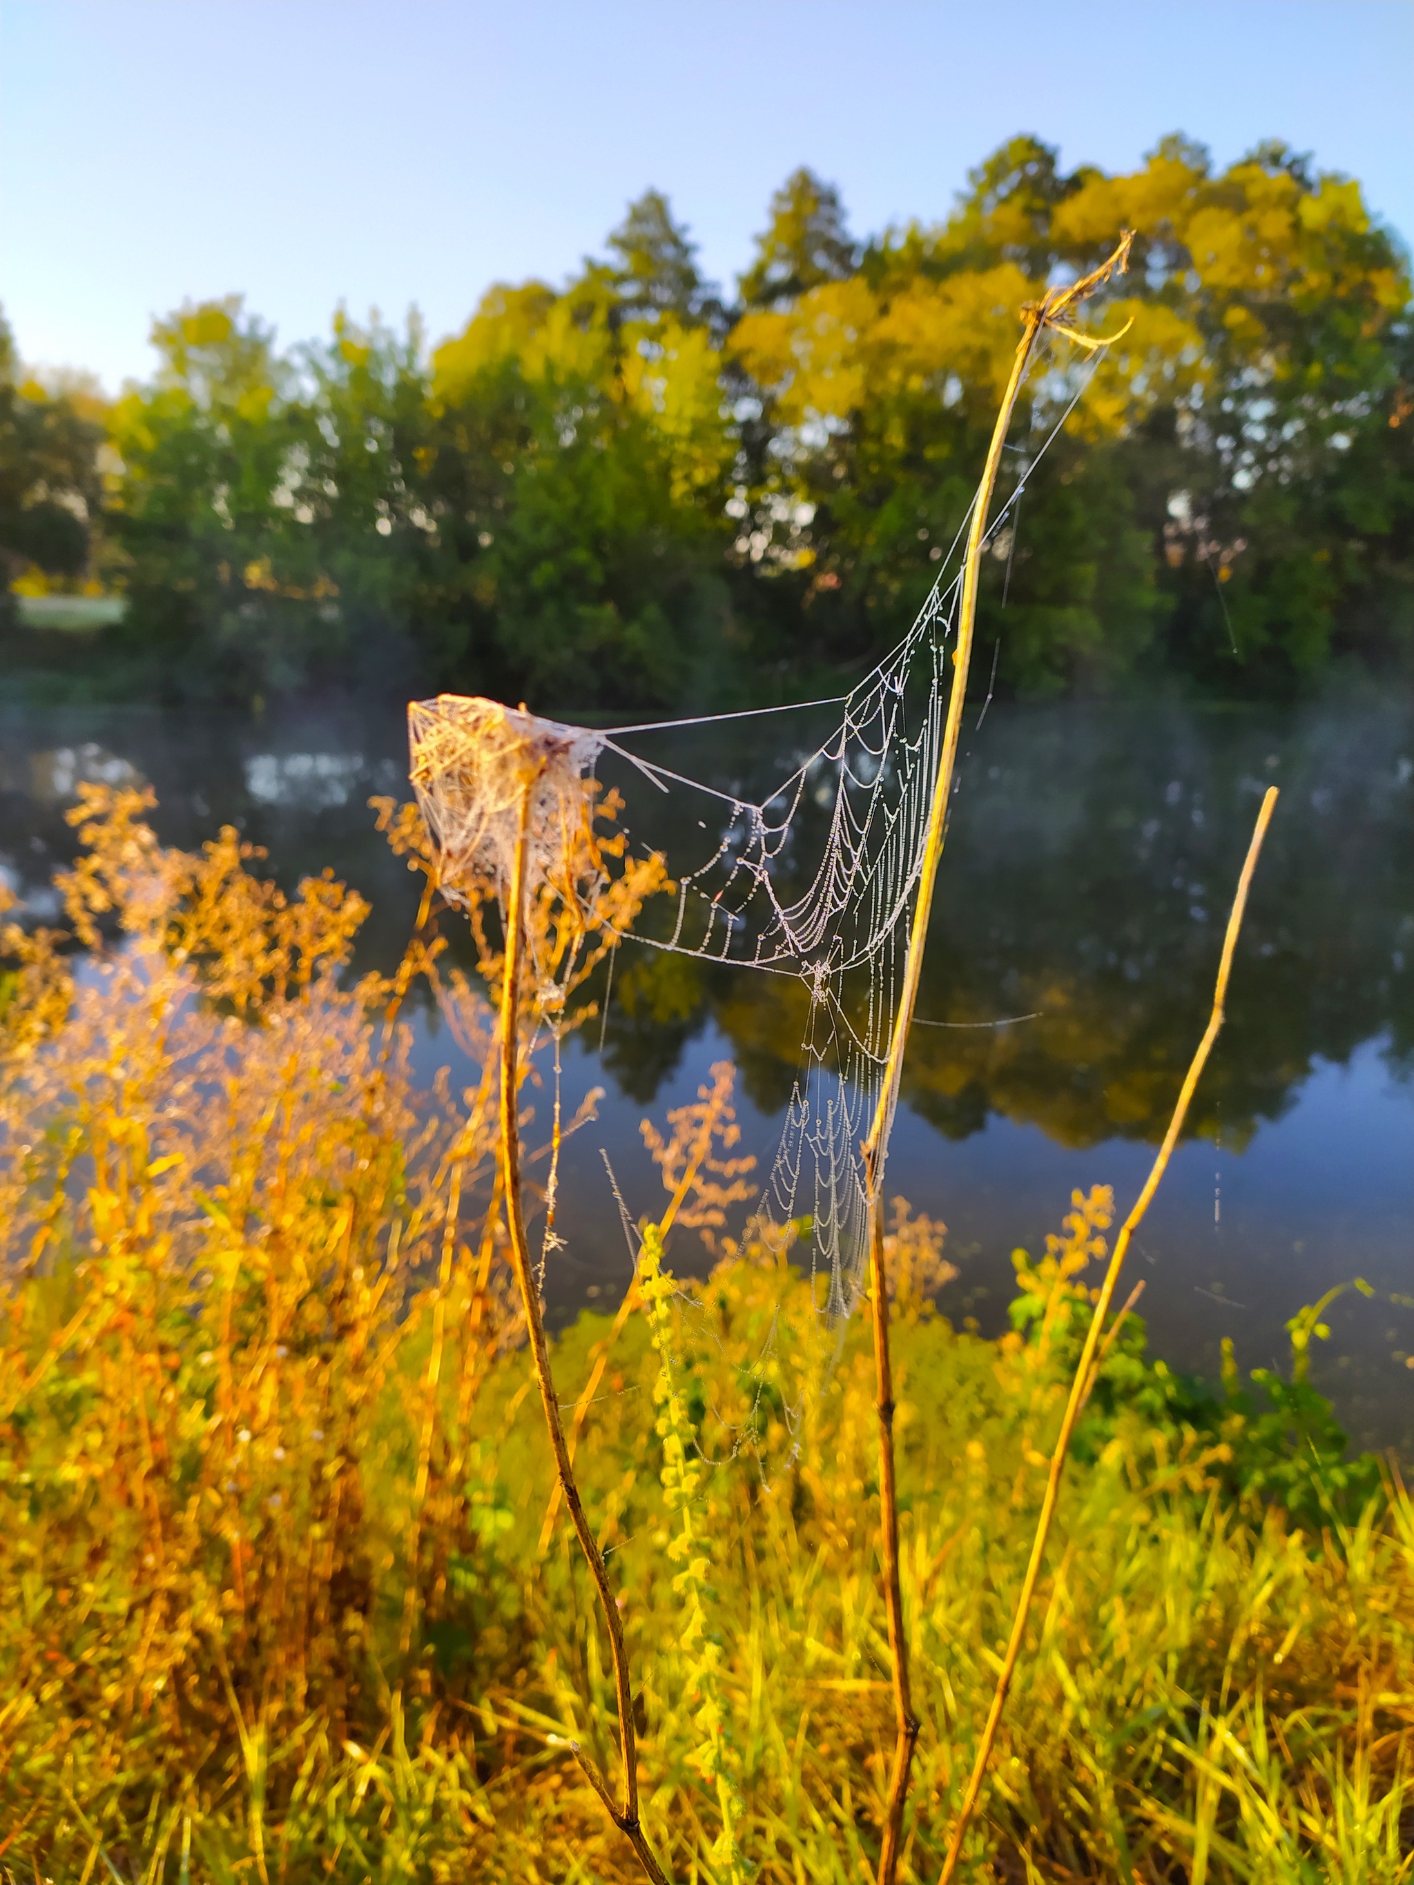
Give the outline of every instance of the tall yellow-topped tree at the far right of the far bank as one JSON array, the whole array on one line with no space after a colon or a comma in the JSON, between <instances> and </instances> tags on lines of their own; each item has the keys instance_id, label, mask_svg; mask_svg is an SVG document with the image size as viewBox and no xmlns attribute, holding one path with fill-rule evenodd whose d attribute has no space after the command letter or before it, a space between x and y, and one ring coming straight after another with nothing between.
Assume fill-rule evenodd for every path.
<instances>
[{"instance_id":1,"label":"tall yellow-topped tree at the far right of the far bank","mask_svg":"<svg viewBox=\"0 0 1414 1885\"><path fill-rule=\"evenodd\" d=\"M1212 173L1165 138L1131 177L1092 173L1052 241L1082 268L1101 222L1137 230L1103 377L1171 599L1169 650L1237 688L1288 688L1333 652L1414 652L1406 258L1359 185L1265 143ZM1120 313L1120 307L1116 307Z\"/></svg>"}]
</instances>

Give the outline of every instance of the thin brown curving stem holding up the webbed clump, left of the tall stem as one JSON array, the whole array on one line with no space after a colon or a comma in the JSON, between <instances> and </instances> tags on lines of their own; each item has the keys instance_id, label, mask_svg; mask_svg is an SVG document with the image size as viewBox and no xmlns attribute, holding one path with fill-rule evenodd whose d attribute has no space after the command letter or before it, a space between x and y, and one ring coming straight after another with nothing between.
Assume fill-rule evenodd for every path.
<instances>
[{"instance_id":1,"label":"thin brown curving stem holding up the webbed clump, left of the tall stem","mask_svg":"<svg viewBox=\"0 0 1414 1885\"><path fill-rule=\"evenodd\" d=\"M575 1468L569 1457L569 1448L566 1446L564 1421L560 1419L560 1402L554 1395L554 1378L551 1374L551 1352L545 1340L545 1318L541 1314L539 1286L535 1280L535 1270L530 1257L530 1238L526 1237L526 1218L520 1203L520 1131L517 1120L518 1108L518 997L520 997L520 952L524 942L524 903L526 903L526 839L530 829L530 801L535 788L535 773L532 773L522 786L520 797L520 826L517 833L515 856L511 865L511 895L505 914L505 967L501 973L501 1180L505 1191L505 1223L511 1235L511 1267L515 1269L515 1280L520 1287L520 1303L526 1312L526 1331L530 1335L530 1353L535 1365L535 1384L539 1387L541 1406L545 1410L545 1427L551 1434L551 1450L554 1453L554 1474L560 1485L566 1506L569 1508L569 1519L575 1527L575 1536L579 1538L579 1548L584 1553L584 1563L588 1565L590 1576L594 1578L594 1589L600 1593L600 1606L603 1610L605 1629L609 1631L609 1647L613 1651L615 1664L615 1691L618 1700L618 1747L624 1768L624 1798L622 1806L615 1802L603 1778L596 1766L583 1753L579 1744L575 1744L575 1755L590 1785L603 1802L609 1817L618 1827L618 1830L628 1838L630 1845L637 1853L639 1864L645 1874L654 1881L654 1885L667 1885L667 1877L660 1868L658 1860L652 1857L652 1849L643 1834L639 1823L639 1774L637 1774L637 1747L633 1736L633 1693L628 1680L628 1651L624 1647L624 1627L618 1619L618 1606L615 1595L609 1589L609 1576L603 1568L603 1557L600 1555L600 1546L590 1531L590 1523L584 1517L584 1506L579 1497L579 1483L575 1482Z\"/></svg>"}]
</instances>

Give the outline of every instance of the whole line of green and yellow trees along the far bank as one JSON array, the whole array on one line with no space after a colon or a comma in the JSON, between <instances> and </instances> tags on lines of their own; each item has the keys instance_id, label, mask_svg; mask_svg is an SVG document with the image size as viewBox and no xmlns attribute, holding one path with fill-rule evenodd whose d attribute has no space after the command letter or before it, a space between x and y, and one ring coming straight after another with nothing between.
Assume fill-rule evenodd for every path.
<instances>
[{"instance_id":1,"label":"whole line of green and yellow trees along the far bank","mask_svg":"<svg viewBox=\"0 0 1414 1885\"><path fill-rule=\"evenodd\" d=\"M106 403L25 379L6 336L9 588L126 594L85 660L168 697L784 697L903 631L1020 305L1122 228L1131 270L1088 330L1127 332L1093 373L1054 343L1012 430L999 494L1024 494L980 603L997 686L1408 671L1408 258L1357 183L1280 143L1216 170L1178 136L1127 175L1016 138L945 221L869 239L797 170L730 302L649 190L603 258L494 287L436 349L417 315L339 311L281 351L230 296L158 320L156 375Z\"/></svg>"}]
</instances>

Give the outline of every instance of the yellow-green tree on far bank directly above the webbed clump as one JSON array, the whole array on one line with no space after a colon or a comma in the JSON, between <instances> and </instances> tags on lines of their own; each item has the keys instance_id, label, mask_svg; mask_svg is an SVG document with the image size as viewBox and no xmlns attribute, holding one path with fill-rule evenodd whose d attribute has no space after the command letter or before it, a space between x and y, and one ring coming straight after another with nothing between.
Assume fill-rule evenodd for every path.
<instances>
[{"instance_id":1,"label":"yellow-green tree on far bank directly above the webbed clump","mask_svg":"<svg viewBox=\"0 0 1414 1885\"><path fill-rule=\"evenodd\" d=\"M650 705L722 684L722 362L666 296L650 313L626 319L601 270L560 296L494 288L436 356L439 500L473 533L469 635L505 692Z\"/></svg>"}]
</instances>

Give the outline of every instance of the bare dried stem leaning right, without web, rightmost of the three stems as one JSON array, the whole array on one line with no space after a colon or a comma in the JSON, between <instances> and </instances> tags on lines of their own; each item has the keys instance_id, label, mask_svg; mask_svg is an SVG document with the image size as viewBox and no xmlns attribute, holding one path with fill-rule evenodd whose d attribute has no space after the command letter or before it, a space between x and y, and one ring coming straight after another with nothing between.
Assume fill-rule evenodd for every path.
<instances>
[{"instance_id":1,"label":"bare dried stem leaning right, without web, rightmost of the three stems","mask_svg":"<svg viewBox=\"0 0 1414 1885\"><path fill-rule=\"evenodd\" d=\"M1129 1238L1139 1229L1139 1223L1148 1210L1154 1193L1159 1188L1159 1180L1167 1171L1173 1148L1178 1144L1178 1133L1182 1131L1184 1118L1188 1116L1188 1106L1193 1099L1199 1076L1212 1052L1212 1042L1224 1024L1224 1001L1227 999L1227 978L1233 971L1233 950L1237 948L1237 935L1242 927L1242 912L1246 910L1246 893L1252 884L1252 873L1258 867L1258 856L1261 852L1261 841L1267 835L1267 826L1271 824L1271 814L1276 807L1276 786L1267 788L1267 795L1261 801L1261 811L1258 812L1258 824L1252 833L1252 843L1248 844L1246 863L1242 865L1242 875L1237 880L1237 895L1233 897L1233 912L1227 918L1227 935L1222 944L1222 961L1218 963L1218 982L1212 992L1212 1014L1208 1016L1208 1025L1203 1039L1197 1044L1197 1052L1188 1067L1184 1084L1178 1091L1178 1105L1173 1108L1173 1118L1169 1120L1169 1131L1163 1135L1163 1144L1159 1146L1154 1167L1144 1180L1144 1189L1135 1199L1135 1206L1120 1227L1120 1235L1114 1238L1114 1255L1105 1272L1105 1282L1101 1284L1099 1297L1095 1301L1095 1312L1090 1318L1090 1329L1086 1331L1084 1348L1080 1350L1080 1359L1075 1365L1075 1380L1071 1382L1071 1397L1065 1402L1065 1416L1061 1419L1060 1434L1056 1436L1056 1450L1050 1455L1050 1472L1046 1476L1046 1493L1041 1500L1041 1516L1037 1517L1035 1540L1031 1542L1031 1561L1026 1566L1026 1578L1022 1580L1022 1595L1016 1598L1016 1615L1012 1617L1011 1640L1007 1644L1007 1655L1001 1663L1001 1674L997 1676L995 1695L992 1696L992 1708L988 1710L986 1727L982 1729L982 1740L977 1749L977 1761L973 1762L973 1772L967 1781L967 1791L958 1808L958 1821L952 1828L952 1840L948 1844L948 1855L943 1860L943 1872L939 1874L939 1885L948 1885L952 1874L958 1868L958 1855L962 1853L962 1842L967 1832L967 1825L973 1817L977 1806L977 1796L982 1791L982 1776L986 1772L988 1759L992 1755L992 1742L997 1734L997 1723L1001 1721L1001 1712L1007 1706L1007 1691L1011 1689L1011 1678L1016 1670L1016 1659L1022 1653L1022 1636L1026 1634L1026 1621L1031 1610L1031 1597L1035 1595L1037 1578L1041 1576L1041 1559L1046 1551L1046 1534L1050 1533L1050 1521L1056 1512L1056 1499L1060 1495L1061 1468L1065 1467L1065 1453L1071 1446L1071 1434L1075 1433L1075 1423L1080 1418L1080 1410L1093 1385L1092 1363L1095 1361L1095 1350L1099 1346L1099 1331L1105 1325L1105 1316L1109 1314L1110 1299L1114 1295L1114 1286L1120 1280L1120 1269L1124 1267L1126 1254L1129 1250ZM1127 1308L1127 1304L1126 1304Z\"/></svg>"}]
</instances>

